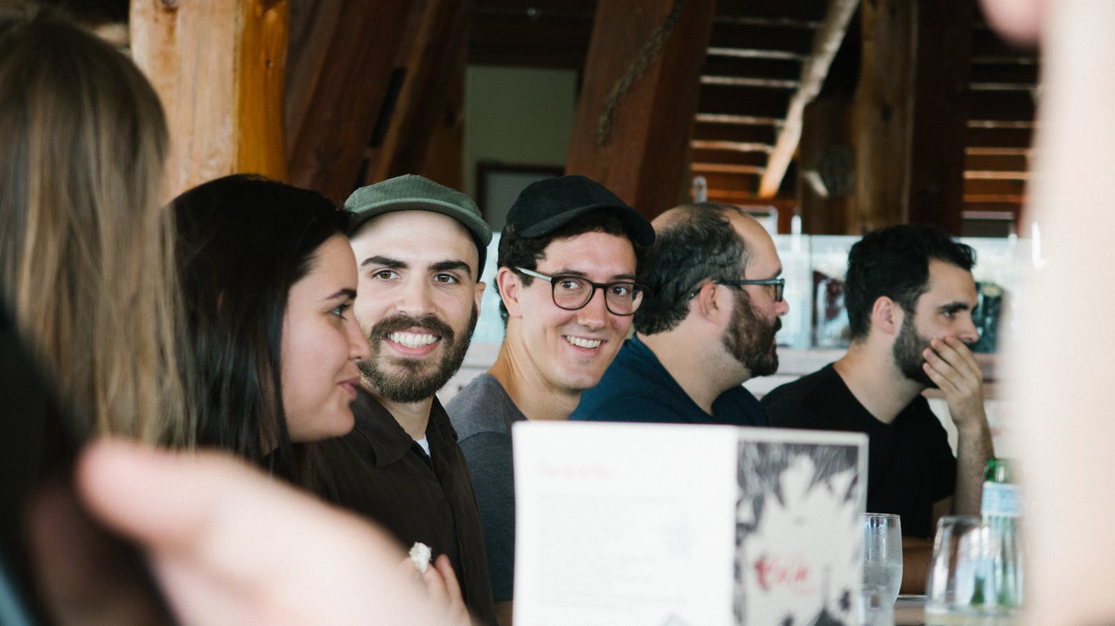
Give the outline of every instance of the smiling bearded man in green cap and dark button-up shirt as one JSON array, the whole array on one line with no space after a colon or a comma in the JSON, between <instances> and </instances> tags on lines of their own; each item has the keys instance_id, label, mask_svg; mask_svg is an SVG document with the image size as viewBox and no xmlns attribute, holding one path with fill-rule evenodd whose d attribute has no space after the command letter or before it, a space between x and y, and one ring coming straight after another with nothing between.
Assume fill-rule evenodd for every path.
<instances>
[{"instance_id":1,"label":"smiling bearded man in green cap and dark button-up shirt","mask_svg":"<svg viewBox=\"0 0 1115 626\"><path fill-rule=\"evenodd\" d=\"M472 615L494 624L476 498L435 396L468 348L492 230L472 199L415 175L358 189L345 208L359 270L352 315L371 354L359 364L356 427L322 444L322 491L405 547L448 558Z\"/></svg>"}]
</instances>

